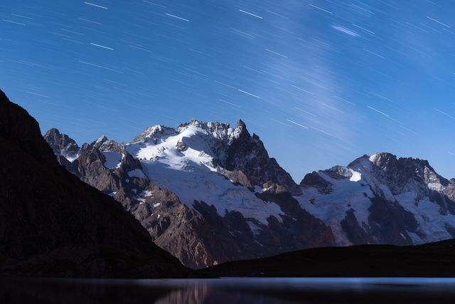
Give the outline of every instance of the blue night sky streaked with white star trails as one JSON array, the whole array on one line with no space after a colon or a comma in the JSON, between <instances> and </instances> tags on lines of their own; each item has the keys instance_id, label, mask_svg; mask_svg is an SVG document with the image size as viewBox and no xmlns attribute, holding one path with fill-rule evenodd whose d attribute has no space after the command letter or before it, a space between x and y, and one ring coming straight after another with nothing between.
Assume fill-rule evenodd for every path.
<instances>
[{"instance_id":1,"label":"blue night sky streaked with white star trails","mask_svg":"<svg viewBox=\"0 0 455 304\"><path fill-rule=\"evenodd\" d=\"M455 1L0 2L0 88L77 142L245 120L297 182L392 152L455 177Z\"/></svg>"}]
</instances>

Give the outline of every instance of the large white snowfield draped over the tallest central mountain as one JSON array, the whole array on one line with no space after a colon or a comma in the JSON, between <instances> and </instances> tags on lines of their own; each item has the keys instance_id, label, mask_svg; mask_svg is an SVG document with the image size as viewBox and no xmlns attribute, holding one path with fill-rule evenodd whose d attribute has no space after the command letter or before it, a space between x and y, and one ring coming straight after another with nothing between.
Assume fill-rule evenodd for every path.
<instances>
[{"instance_id":1,"label":"large white snowfield draped over the tallest central mountain","mask_svg":"<svg viewBox=\"0 0 455 304\"><path fill-rule=\"evenodd\" d=\"M266 225L269 216L282 221L282 211L277 204L258 199L246 187L235 186L213 167L210 140L228 140L228 137L235 136L235 130L225 128L210 132L195 122L156 140L134 142L126 148L141 159L144 172L152 182L176 193L190 208L195 200L204 201L215 206L220 216L225 216L226 211L239 211L243 216Z\"/></svg>"}]
</instances>

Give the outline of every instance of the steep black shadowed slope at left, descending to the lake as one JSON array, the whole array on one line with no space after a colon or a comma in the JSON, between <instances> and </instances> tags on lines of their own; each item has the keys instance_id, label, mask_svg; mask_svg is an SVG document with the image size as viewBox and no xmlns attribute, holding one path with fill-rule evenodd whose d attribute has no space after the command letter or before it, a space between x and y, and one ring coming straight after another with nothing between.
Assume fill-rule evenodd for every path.
<instances>
[{"instance_id":1,"label":"steep black shadowed slope at left, descending to the lake","mask_svg":"<svg viewBox=\"0 0 455 304\"><path fill-rule=\"evenodd\" d=\"M48 140L60 153L77 147L55 130ZM63 169L36 120L1 91L0 146L1 273L185 275L187 269L117 201Z\"/></svg>"}]
</instances>

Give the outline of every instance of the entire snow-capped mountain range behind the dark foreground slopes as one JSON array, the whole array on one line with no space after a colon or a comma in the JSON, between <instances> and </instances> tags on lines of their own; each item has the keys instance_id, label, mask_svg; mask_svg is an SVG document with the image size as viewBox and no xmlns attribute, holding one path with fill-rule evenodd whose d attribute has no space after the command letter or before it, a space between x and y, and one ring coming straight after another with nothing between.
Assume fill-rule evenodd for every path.
<instances>
[{"instance_id":1,"label":"entire snow-capped mountain range behind the dark foreground slopes","mask_svg":"<svg viewBox=\"0 0 455 304\"><path fill-rule=\"evenodd\" d=\"M297 185L241 120L235 127L197 120L149 127L123 144L100 137L75 160L61 157L65 149L54 152L191 267L315 246L455 236L454 180L427 161L365 155L306 174Z\"/></svg>"}]
</instances>

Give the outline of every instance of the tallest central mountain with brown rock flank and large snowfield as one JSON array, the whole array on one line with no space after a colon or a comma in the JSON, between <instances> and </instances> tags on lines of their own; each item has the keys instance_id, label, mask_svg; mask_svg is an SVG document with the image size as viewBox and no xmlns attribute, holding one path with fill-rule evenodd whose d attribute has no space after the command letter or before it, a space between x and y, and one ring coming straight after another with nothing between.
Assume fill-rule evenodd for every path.
<instances>
[{"instance_id":1,"label":"tallest central mountain with brown rock flank and large snowfield","mask_svg":"<svg viewBox=\"0 0 455 304\"><path fill-rule=\"evenodd\" d=\"M150 127L132 143L100 137L82 145L73 162L58 157L121 202L186 266L335 244L328 226L289 194L299 187L242 122Z\"/></svg>"}]
</instances>

